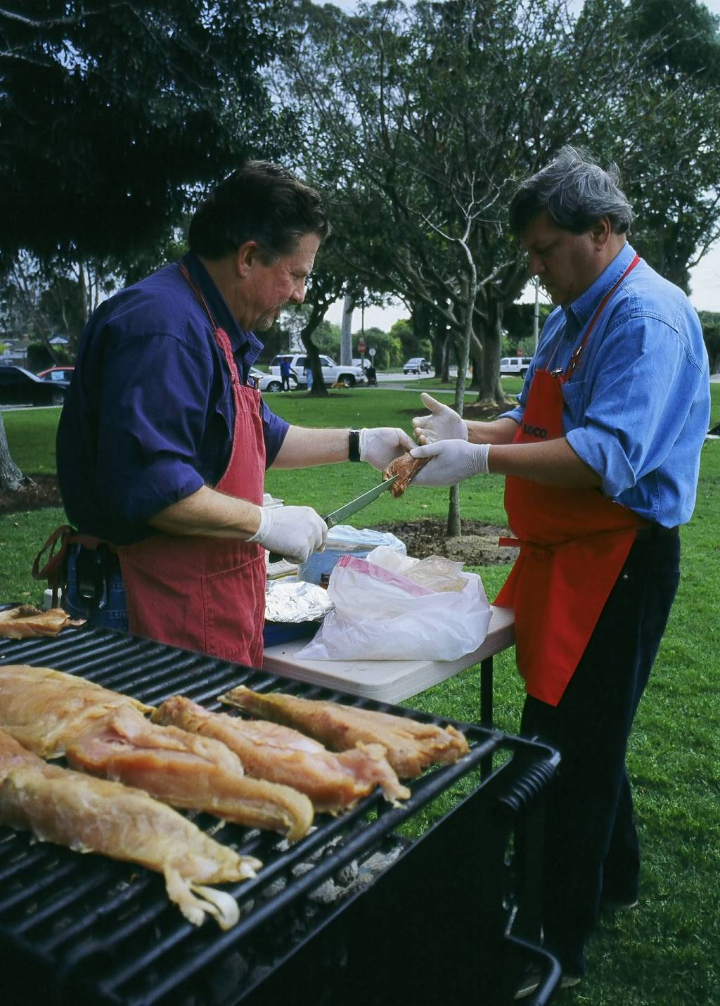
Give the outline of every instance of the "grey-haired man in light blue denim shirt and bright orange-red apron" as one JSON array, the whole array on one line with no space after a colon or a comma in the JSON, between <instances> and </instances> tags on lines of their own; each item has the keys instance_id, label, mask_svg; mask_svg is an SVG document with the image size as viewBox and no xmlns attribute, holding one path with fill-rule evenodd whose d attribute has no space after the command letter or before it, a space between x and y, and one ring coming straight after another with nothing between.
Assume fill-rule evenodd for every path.
<instances>
[{"instance_id":1,"label":"grey-haired man in light blue denim shirt and bright orange-red apron","mask_svg":"<svg viewBox=\"0 0 720 1006\"><path fill-rule=\"evenodd\" d=\"M562 758L549 794L543 931L580 980L601 903L638 900L627 737L679 581L710 417L707 354L687 297L636 255L612 174L572 148L510 208L556 309L518 405L464 422L423 395L416 485L506 476L520 546L496 604L515 612L523 732ZM537 980L521 990L529 994Z\"/></svg>"}]
</instances>

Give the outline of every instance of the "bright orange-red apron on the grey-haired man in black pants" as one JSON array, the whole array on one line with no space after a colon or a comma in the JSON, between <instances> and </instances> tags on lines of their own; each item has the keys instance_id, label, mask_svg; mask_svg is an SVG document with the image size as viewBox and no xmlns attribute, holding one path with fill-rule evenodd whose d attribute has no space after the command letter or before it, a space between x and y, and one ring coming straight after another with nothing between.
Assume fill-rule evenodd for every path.
<instances>
[{"instance_id":1,"label":"bright orange-red apron on the grey-haired man in black pants","mask_svg":"<svg viewBox=\"0 0 720 1006\"><path fill-rule=\"evenodd\" d=\"M562 437L562 385L600 312L640 262L636 256L602 299L564 373L538 370L515 444ZM557 705L592 635L643 520L597 489L560 489L508 476L505 509L520 554L495 600L515 612L518 669L529 695Z\"/></svg>"}]
</instances>

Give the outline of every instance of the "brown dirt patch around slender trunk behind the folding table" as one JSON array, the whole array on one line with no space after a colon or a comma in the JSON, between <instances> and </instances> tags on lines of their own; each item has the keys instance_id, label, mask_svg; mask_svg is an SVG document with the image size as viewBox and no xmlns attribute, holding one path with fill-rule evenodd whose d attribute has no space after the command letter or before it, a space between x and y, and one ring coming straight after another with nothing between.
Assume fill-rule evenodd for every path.
<instances>
[{"instance_id":1,"label":"brown dirt patch around slender trunk behind the folding table","mask_svg":"<svg viewBox=\"0 0 720 1006\"><path fill-rule=\"evenodd\" d=\"M406 524L376 524L377 531L391 531L405 543L407 554L424 559L428 555L444 555L466 565L501 565L514 562L517 548L498 545L498 538L510 535L506 527L484 524L480 520L462 521L463 534L448 538L446 522L431 517Z\"/></svg>"}]
</instances>

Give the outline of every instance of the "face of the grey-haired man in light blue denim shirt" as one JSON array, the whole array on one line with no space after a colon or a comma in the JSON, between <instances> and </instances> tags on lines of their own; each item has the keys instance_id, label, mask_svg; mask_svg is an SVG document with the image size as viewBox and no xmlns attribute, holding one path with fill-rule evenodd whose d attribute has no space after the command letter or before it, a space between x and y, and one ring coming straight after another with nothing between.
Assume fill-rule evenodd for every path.
<instances>
[{"instance_id":1,"label":"face of the grey-haired man in light blue denim shirt","mask_svg":"<svg viewBox=\"0 0 720 1006\"><path fill-rule=\"evenodd\" d=\"M558 226L543 210L524 231L521 244L529 256L531 276L537 276L553 304L567 307L584 294L604 269L594 230L574 234Z\"/></svg>"}]
</instances>

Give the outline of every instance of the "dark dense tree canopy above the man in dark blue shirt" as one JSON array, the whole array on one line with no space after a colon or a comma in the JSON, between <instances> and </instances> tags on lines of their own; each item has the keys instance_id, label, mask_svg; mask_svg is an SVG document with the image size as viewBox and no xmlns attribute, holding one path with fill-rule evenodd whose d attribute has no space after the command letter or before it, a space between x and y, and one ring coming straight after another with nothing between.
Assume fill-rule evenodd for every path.
<instances>
[{"instance_id":1,"label":"dark dense tree canopy above the man in dark blue shirt","mask_svg":"<svg viewBox=\"0 0 720 1006\"><path fill-rule=\"evenodd\" d=\"M0 9L0 266L132 257L291 117L258 69L279 0L19 0Z\"/></svg>"}]
</instances>

